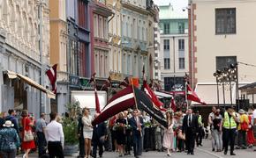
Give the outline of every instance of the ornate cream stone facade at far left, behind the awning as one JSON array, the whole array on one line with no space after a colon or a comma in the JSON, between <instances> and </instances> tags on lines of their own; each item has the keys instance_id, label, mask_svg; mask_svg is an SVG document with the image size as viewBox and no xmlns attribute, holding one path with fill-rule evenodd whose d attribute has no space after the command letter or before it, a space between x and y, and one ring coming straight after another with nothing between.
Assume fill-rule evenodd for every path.
<instances>
[{"instance_id":1,"label":"ornate cream stone facade at far left, behind the awning","mask_svg":"<svg viewBox=\"0 0 256 158\"><path fill-rule=\"evenodd\" d=\"M40 79L48 64L49 1L0 1L0 111L49 112L49 99L34 88L49 85Z\"/></svg>"}]
</instances>

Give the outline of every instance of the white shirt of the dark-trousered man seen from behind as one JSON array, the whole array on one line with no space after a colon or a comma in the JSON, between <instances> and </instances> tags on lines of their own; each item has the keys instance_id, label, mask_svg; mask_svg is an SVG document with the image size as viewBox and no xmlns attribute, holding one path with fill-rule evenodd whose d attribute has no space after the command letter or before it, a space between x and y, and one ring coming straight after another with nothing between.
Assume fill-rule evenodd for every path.
<instances>
[{"instance_id":1,"label":"white shirt of the dark-trousered man seen from behind","mask_svg":"<svg viewBox=\"0 0 256 158\"><path fill-rule=\"evenodd\" d=\"M47 141L61 141L62 146L64 146L64 133L63 127L56 120L51 121L48 126L46 126L46 140Z\"/></svg>"}]
</instances>

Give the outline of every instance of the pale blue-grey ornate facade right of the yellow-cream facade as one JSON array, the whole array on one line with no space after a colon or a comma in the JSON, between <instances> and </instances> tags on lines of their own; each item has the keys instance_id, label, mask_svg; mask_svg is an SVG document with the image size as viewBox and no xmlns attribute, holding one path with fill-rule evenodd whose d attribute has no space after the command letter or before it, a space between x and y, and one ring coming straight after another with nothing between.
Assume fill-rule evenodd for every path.
<instances>
[{"instance_id":1,"label":"pale blue-grey ornate facade right of the yellow-cream facade","mask_svg":"<svg viewBox=\"0 0 256 158\"><path fill-rule=\"evenodd\" d=\"M122 4L122 69L124 76L142 78L143 63L149 76L147 50L147 3L146 0L123 0ZM119 53L118 53L119 55Z\"/></svg>"}]
</instances>

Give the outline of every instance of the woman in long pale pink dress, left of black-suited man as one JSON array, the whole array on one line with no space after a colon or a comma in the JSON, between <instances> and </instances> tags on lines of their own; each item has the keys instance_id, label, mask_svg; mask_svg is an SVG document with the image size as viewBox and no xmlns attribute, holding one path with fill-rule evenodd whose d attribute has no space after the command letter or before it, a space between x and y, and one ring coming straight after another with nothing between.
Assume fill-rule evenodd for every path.
<instances>
[{"instance_id":1,"label":"woman in long pale pink dress, left of black-suited man","mask_svg":"<svg viewBox=\"0 0 256 158\"><path fill-rule=\"evenodd\" d=\"M162 147L167 149L167 155L170 156L171 150L174 149L174 119L173 114L171 111L166 111L166 120L167 120L167 127L164 129L163 138L162 138Z\"/></svg>"}]
</instances>

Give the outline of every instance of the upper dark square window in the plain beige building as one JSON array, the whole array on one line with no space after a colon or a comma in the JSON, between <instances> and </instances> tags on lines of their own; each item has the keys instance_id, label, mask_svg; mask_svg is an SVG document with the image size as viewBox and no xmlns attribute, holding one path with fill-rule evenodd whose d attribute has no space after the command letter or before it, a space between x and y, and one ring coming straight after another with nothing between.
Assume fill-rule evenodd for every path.
<instances>
[{"instance_id":1,"label":"upper dark square window in the plain beige building","mask_svg":"<svg viewBox=\"0 0 256 158\"><path fill-rule=\"evenodd\" d=\"M236 8L215 9L215 33L236 33Z\"/></svg>"}]
</instances>

